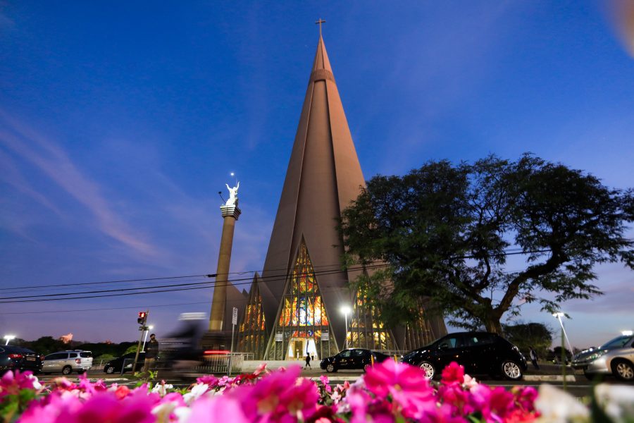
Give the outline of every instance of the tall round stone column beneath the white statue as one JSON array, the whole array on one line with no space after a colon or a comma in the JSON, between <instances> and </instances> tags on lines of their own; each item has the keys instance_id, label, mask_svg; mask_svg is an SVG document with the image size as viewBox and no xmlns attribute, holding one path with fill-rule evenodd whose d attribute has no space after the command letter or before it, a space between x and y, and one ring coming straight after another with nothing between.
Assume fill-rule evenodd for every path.
<instances>
[{"instance_id":1,"label":"tall round stone column beneath the white statue","mask_svg":"<svg viewBox=\"0 0 634 423\"><path fill-rule=\"evenodd\" d=\"M223 236L220 239L220 252L218 252L218 269L216 270L216 283L213 286L213 300L211 301L211 315L209 317L209 330L222 331L225 308L227 304L227 284L229 283L229 263L231 261L231 248L233 245L233 231L235 221L240 216L240 209L236 205L220 206L224 223Z\"/></svg>"}]
</instances>

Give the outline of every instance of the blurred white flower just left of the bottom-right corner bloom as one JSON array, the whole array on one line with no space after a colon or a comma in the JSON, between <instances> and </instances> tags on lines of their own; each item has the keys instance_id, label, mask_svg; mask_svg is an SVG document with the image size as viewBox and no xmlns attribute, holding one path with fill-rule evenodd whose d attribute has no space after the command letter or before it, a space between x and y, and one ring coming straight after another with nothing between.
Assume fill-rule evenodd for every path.
<instances>
[{"instance_id":1,"label":"blurred white flower just left of the bottom-right corner bloom","mask_svg":"<svg viewBox=\"0 0 634 423\"><path fill-rule=\"evenodd\" d=\"M535 408L542 414L539 421L548 423L589 422L590 412L569 393L552 385L542 384Z\"/></svg>"}]
</instances>

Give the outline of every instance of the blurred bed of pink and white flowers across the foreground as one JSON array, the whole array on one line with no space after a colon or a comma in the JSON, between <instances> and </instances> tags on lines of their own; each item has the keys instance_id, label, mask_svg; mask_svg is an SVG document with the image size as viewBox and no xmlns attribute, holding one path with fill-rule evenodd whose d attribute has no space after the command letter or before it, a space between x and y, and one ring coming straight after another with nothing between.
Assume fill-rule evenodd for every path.
<instances>
[{"instance_id":1,"label":"blurred bed of pink and white flowers across the foreground","mask_svg":"<svg viewBox=\"0 0 634 423\"><path fill-rule=\"evenodd\" d=\"M634 416L634 388L602 388L588 407L551 386L540 395L530 386L505 388L479 384L456 363L442 371L440 383L423 371L387 360L350 385L330 386L299 376L300 367L234 378L199 378L187 389L164 382L128 386L85 377L75 384L58 378L43 386L30 372L0 379L0 419L24 423L151 422L590 422L596 412L606 422ZM599 390L601 386L597 388ZM611 419L611 420L610 420Z\"/></svg>"}]
</instances>

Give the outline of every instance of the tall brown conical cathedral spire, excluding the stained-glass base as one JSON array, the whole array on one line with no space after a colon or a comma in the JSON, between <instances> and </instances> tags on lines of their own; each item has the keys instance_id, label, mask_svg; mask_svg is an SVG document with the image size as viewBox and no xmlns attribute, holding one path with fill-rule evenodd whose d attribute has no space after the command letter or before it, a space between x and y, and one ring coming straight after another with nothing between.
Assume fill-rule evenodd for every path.
<instances>
[{"instance_id":1,"label":"tall brown conical cathedral spire, excluding the stained-glass base","mask_svg":"<svg viewBox=\"0 0 634 423\"><path fill-rule=\"evenodd\" d=\"M269 333L303 238L330 316L330 336L335 335L343 345L340 307L351 302L347 283L356 274L337 271L344 249L335 226L342 210L364 185L320 36L262 274L266 288L261 289L261 295ZM324 273L328 270L330 273Z\"/></svg>"}]
</instances>

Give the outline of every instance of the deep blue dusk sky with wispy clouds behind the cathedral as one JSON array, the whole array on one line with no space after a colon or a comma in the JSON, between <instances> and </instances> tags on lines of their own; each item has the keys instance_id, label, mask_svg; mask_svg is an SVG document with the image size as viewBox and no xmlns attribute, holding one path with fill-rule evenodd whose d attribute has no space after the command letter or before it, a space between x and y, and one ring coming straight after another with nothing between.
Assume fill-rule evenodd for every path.
<instances>
[{"instance_id":1,"label":"deep blue dusk sky with wispy clouds behind the cathedral","mask_svg":"<svg viewBox=\"0 0 634 423\"><path fill-rule=\"evenodd\" d=\"M0 0L0 293L209 281L199 275L216 271L218 191L226 199L237 180L231 278L248 288L318 18L366 179L532 152L632 187L634 35L619 4ZM605 295L562 305L578 348L634 329L634 271L597 274ZM25 288L175 276L192 277ZM181 312L209 312L211 295L1 303L0 331L130 341L149 307L160 338ZM519 322L559 333L539 307L522 310Z\"/></svg>"}]
</instances>

